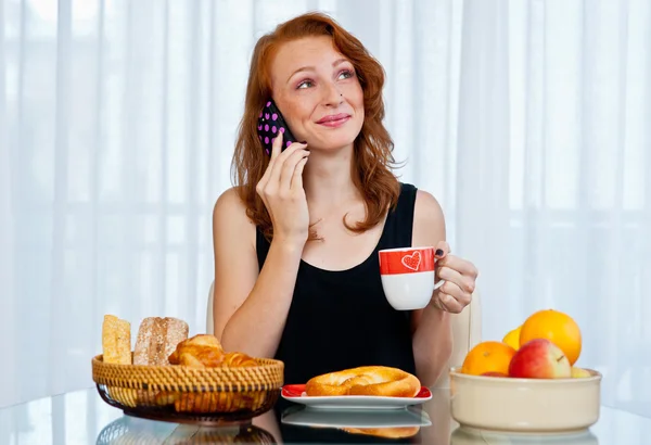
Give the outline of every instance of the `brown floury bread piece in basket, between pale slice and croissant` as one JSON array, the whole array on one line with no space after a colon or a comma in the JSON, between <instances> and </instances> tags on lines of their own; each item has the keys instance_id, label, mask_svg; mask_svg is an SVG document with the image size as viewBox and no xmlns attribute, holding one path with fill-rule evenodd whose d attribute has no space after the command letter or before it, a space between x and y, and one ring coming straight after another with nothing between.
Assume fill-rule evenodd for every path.
<instances>
[{"instance_id":1,"label":"brown floury bread piece in basket, between pale slice and croissant","mask_svg":"<svg viewBox=\"0 0 651 445\"><path fill-rule=\"evenodd\" d=\"M188 338L188 323L178 318L145 318L138 329L133 365L169 365L169 355Z\"/></svg>"}]
</instances>

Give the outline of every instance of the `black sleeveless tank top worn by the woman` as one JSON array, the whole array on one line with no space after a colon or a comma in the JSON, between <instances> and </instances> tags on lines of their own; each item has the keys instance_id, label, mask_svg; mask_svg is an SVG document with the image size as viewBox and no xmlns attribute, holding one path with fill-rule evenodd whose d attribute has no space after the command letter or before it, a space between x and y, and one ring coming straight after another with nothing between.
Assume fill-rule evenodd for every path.
<instances>
[{"instance_id":1,"label":"black sleeveless tank top worn by the woman","mask_svg":"<svg viewBox=\"0 0 651 445\"><path fill-rule=\"evenodd\" d=\"M346 270L323 270L301 260L294 295L276 358L285 365L285 383L305 383L326 372L367 365L391 366L416 374L410 313L395 310L380 280L378 251L411 246L417 189L401 183L373 252ZM261 269L269 242L256 237Z\"/></svg>"}]
</instances>

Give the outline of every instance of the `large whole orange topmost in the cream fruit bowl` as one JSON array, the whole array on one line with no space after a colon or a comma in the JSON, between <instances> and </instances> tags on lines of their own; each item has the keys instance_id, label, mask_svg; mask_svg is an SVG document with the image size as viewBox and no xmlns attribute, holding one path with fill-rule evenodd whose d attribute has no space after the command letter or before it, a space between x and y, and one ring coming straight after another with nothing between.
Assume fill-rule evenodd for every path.
<instances>
[{"instance_id":1,"label":"large whole orange topmost in the cream fruit bowl","mask_svg":"<svg viewBox=\"0 0 651 445\"><path fill-rule=\"evenodd\" d=\"M572 317L559 310L538 310L522 323L520 345L534 339L547 339L556 344L570 365L574 365L580 355L580 329Z\"/></svg>"}]
</instances>

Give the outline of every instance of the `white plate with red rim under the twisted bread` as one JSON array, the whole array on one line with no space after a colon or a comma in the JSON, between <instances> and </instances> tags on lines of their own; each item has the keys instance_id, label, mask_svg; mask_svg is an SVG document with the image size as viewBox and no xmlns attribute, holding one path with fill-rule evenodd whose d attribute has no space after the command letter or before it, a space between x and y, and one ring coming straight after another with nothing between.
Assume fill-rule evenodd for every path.
<instances>
[{"instance_id":1,"label":"white plate with red rim under the twisted bread","mask_svg":"<svg viewBox=\"0 0 651 445\"><path fill-rule=\"evenodd\" d=\"M305 384L286 384L280 393L282 398L319 409L401 409L419 405L432 398L432 392L422 386L416 397L381 397L367 395L318 396L305 394Z\"/></svg>"}]
</instances>

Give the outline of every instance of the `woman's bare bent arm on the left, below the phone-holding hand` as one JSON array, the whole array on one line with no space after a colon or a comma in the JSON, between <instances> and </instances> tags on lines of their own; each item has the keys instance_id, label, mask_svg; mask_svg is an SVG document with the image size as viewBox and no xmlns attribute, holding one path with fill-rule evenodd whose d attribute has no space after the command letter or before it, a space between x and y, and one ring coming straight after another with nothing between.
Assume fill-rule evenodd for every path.
<instances>
[{"instance_id":1,"label":"woman's bare bent arm on the left, below the phone-holding hand","mask_svg":"<svg viewBox=\"0 0 651 445\"><path fill-rule=\"evenodd\" d=\"M258 275L255 226L234 189L215 204L213 240L215 335L226 351L272 357L292 303L302 250L271 242Z\"/></svg>"}]
</instances>

